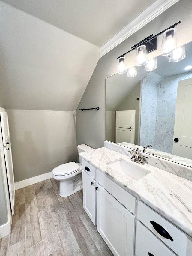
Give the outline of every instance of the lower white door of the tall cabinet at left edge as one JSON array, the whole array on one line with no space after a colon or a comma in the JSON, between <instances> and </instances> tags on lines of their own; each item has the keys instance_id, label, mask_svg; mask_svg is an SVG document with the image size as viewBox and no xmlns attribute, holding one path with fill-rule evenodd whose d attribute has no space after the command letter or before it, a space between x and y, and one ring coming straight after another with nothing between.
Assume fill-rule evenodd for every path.
<instances>
[{"instance_id":1,"label":"lower white door of the tall cabinet at left edge","mask_svg":"<svg viewBox=\"0 0 192 256\"><path fill-rule=\"evenodd\" d=\"M5 155L5 165L7 170L7 181L8 181L8 187L9 187L11 212L12 214L14 214L15 182L14 182L14 174L13 174L13 161L12 161L10 140L9 140L9 144L4 148L4 155Z\"/></svg>"}]
</instances>

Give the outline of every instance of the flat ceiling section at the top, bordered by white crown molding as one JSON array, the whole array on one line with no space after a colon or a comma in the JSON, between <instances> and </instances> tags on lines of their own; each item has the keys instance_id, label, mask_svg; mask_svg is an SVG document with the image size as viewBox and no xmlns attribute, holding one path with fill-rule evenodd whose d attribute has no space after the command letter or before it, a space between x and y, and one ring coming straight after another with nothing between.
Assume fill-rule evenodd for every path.
<instances>
[{"instance_id":1,"label":"flat ceiling section at the top, bordered by white crown molding","mask_svg":"<svg viewBox=\"0 0 192 256\"><path fill-rule=\"evenodd\" d=\"M3 0L101 47L154 0Z\"/></svg>"}]
</instances>

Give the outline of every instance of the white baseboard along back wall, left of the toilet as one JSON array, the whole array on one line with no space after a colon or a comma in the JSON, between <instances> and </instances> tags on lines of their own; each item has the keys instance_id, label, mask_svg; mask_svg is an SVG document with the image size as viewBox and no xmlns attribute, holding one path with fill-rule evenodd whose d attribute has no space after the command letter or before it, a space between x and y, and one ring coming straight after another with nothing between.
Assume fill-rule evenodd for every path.
<instances>
[{"instance_id":1,"label":"white baseboard along back wall, left of the toilet","mask_svg":"<svg viewBox=\"0 0 192 256\"><path fill-rule=\"evenodd\" d=\"M15 182L15 190L19 189L19 188L24 188L27 187L29 185L33 185L35 183L38 183L40 181L46 180L46 179L50 179L52 178L53 173L49 172L49 173L44 173L29 179L24 179L18 182Z\"/></svg>"}]
</instances>

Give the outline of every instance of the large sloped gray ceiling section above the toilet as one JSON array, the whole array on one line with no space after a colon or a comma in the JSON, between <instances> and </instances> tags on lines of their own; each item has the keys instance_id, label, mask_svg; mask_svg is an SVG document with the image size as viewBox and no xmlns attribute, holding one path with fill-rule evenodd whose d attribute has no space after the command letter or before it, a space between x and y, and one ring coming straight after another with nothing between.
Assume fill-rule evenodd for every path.
<instances>
[{"instance_id":1,"label":"large sloped gray ceiling section above the toilet","mask_svg":"<svg viewBox=\"0 0 192 256\"><path fill-rule=\"evenodd\" d=\"M0 4L0 106L76 110L97 65L99 47Z\"/></svg>"}]
</instances>

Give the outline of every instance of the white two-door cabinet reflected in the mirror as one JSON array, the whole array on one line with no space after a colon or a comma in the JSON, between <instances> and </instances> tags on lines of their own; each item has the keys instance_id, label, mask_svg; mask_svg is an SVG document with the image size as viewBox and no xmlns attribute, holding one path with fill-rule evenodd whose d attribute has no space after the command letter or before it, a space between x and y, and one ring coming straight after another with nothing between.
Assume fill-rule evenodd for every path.
<instances>
[{"instance_id":1,"label":"white two-door cabinet reflected in the mirror","mask_svg":"<svg viewBox=\"0 0 192 256\"><path fill-rule=\"evenodd\" d=\"M116 143L135 143L135 110L116 111Z\"/></svg>"}]
</instances>

